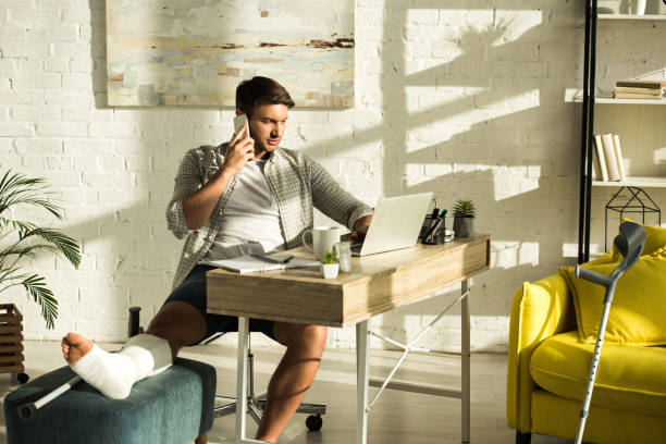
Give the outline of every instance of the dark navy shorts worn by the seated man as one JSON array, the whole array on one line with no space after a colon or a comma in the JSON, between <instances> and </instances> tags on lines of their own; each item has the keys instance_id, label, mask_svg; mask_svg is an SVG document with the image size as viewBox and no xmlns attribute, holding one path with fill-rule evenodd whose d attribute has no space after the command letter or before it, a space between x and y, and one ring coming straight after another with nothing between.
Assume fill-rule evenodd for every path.
<instances>
[{"instance_id":1,"label":"dark navy shorts worn by the seated man","mask_svg":"<svg viewBox=\"0 0 666 444\"><path fill-rule=\"evenodd\" d=\"M224 314L212 314L206 312L206 272L212 270L214 267L210 266L196 266L187 278L171 292L171 295L164 300L164 304L169 303L187 303L201 313L206 318L207 332L206 337L210 337L218 332L237 332L238 331L238 318L234 316ZM275 322L262 320L262 319L250 319L250 332L261 332L272 340L275 340L273 334L273 325Z\"/></svg>"}]
</instances>

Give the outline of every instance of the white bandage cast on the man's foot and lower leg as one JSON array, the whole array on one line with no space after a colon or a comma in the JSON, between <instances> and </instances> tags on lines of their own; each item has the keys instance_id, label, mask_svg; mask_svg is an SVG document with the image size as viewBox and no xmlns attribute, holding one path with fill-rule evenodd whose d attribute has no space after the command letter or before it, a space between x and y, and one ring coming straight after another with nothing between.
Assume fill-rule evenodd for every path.
<instances>
[{"instance_id":1,"label":"white bandage cast on the man's foot and lower leg","mask_svg":"<svg viewBox=\"0 0 666 444\"><path fill-rule=\"evenodd\" d=\"M158 374L171 365L171 347L166 340L139 334L131 337L118 353L104 351L96 344L70 367L102 395L124 399L135 382Z\"/></svg>"}]
</instances>

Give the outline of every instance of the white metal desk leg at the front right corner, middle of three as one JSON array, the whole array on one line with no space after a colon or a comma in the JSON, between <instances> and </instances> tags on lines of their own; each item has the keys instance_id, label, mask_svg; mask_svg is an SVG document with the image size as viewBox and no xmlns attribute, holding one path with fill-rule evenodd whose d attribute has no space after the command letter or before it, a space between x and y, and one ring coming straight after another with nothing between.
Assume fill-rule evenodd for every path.
<instances>
[{"instance_id":1,"label":"white metal desk leg at the front right corner, middle of three","mask_svg":"<svg viewBox=\"0 0 666 444\"><path fill-rule=\"evenodd\" d=\"M368 321L356 324L356 444L368 442Z\"/></svg>"}]
</instances>

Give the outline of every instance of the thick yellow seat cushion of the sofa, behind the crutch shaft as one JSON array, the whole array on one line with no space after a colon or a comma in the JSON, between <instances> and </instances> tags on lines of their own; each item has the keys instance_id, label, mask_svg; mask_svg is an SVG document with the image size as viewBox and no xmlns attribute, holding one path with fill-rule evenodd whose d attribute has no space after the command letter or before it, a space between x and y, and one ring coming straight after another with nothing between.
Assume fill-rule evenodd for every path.
<instances>
[{"instance_id":1,"label":"thick yellow seat cushion of the sofa, behind the crutch shaft","mask_svg":"<svg viewBox=\"0 0 666 444\"><path fill-rule=\"evenodd\" d=\"M575 331L551 336L534 350L530 374L542 388L582 402L593 354L594 344L581 344ZM592 404L666 417L666 348L604 343Z\"/></svg>"}]
</instances>

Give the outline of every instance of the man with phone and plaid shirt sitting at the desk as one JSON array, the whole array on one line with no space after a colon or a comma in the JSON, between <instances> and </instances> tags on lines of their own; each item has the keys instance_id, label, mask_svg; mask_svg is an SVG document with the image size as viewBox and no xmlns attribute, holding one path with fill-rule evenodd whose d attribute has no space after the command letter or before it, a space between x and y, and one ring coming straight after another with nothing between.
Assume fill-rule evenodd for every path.
<instances>
[{"instance_id":1,"label":"man with phone and plaid shirt sitting at the desk","mask_svg":"<svg viewBox=\"0 0 666 444\"><path fill-rule=\"evenodd\" d=\"M345 192L307 156L280 147L294 101L275 81L254 77L236 89L236 114L247 114L229 144L189 150L175 178L166 209L169 229L187 236L173 291L146 334L110 354L76 333L62 341L65 360L102 394L124 398L134 382L171 366L183 346L219 331L237 331L237 318L206 312L206 271L201 260L248 252L273 252L301 245L312 227L312 208L362 237L371 208ZM257 439L276 443L314 380L326 341L322 325L250 320L285 345L268 387Z\"/></svg>"}]
</instances>

